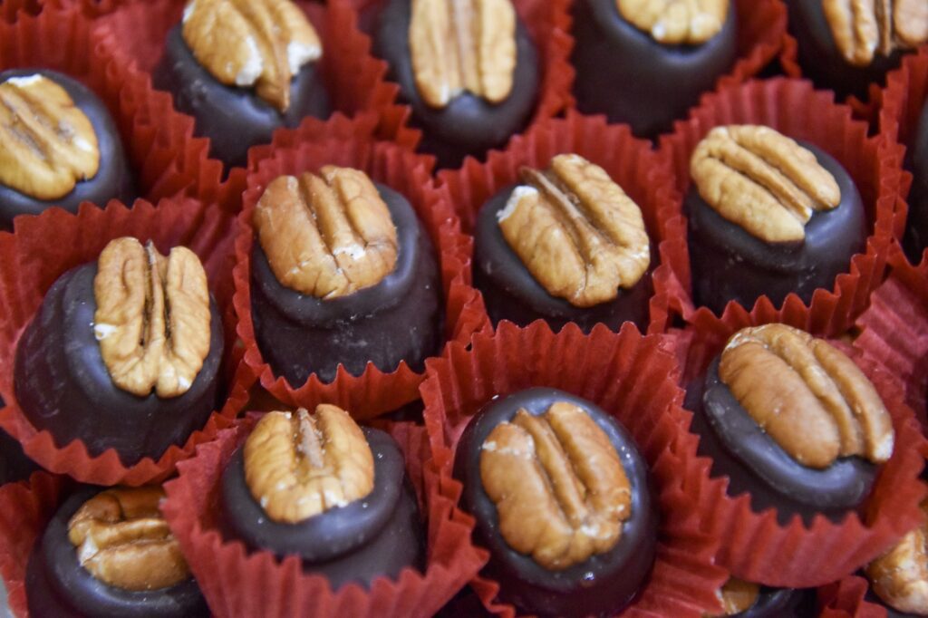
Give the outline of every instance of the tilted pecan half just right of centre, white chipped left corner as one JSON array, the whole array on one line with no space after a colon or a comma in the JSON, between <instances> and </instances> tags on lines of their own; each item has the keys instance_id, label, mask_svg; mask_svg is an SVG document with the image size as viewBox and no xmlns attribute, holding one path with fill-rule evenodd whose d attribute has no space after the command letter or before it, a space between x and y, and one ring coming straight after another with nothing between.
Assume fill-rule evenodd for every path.
<instances>
[{"instance_id":1,"label":"tilted pecan half just right of centre, white chipped left corner","mask_svg":"<svg viewBox=\"0 0 928 618\"><path fill-rule=\"evenodd\" d=\"M648 233L638 204L605 170L563 154L520 175L499 228L549 294L590 307L638 283L651 263Z\"/></svg>"}]
</instances>

